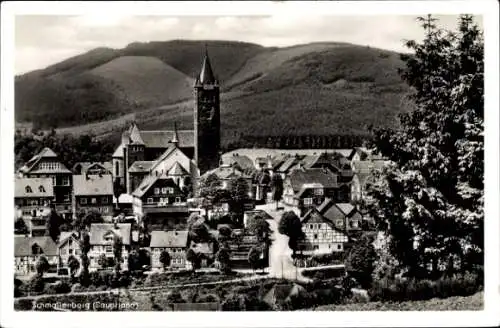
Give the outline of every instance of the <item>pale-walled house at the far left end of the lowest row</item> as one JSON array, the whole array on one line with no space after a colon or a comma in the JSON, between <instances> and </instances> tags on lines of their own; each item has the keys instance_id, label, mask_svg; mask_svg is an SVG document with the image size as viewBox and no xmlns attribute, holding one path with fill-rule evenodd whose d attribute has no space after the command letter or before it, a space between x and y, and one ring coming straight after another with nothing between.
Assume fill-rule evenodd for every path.
<instances>
[{"instance_id":1,"label":"pale-walled house at the far left end of the lowest row","mask_svg":"<svg viewBox=\"0 0 500 328\"><path fill-rule=\"evenodd\" d=\"M26 276L36 273L36 263L40 257L49 262L49 273L57 270L57 245L49 236L43 237L14 237L14 272L16 275Z\"/></svg>"}]
</instances>

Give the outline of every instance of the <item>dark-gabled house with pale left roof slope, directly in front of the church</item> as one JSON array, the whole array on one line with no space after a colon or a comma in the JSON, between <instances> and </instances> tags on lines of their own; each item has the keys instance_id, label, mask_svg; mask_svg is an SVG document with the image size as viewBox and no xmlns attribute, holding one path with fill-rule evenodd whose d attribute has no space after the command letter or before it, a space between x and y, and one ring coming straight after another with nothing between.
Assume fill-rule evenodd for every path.
<instances>
[{"instance_id":1,"label":"dark-gabled house with pale left roof slope, directly in front of the church","mask_svg":"<svg viewBox=\"0 0 500 328\"><path fill-rule=\"evenodd\" d=\"M139 223L143 222L151 230L185 228L189 216L187 193L175 179L175 176L156 174L144 178L132 193L132 209Z\"/></svg>"}]
</instances>

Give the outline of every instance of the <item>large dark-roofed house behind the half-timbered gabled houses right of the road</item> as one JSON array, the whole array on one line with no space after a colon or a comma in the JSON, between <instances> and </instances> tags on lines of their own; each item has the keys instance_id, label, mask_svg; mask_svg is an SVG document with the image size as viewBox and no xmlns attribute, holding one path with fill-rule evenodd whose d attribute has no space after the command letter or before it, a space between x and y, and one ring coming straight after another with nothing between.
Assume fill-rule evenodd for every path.
<instances>
[{"instance_id":1,"label":"large dark-roofed house behind the half-timbered gabled houses right of the road","mask_svg":"<svg viewBox=\"0 0 500 328\"><path fill-rule=\"evenodd\" d=\"M347 202L350 198L350 182L338 181L338 175L326 168L294 170L283 187L283 202L292 206L298 216L321 205L326 198L336 202Z\"/></svg>"}]
</instances>

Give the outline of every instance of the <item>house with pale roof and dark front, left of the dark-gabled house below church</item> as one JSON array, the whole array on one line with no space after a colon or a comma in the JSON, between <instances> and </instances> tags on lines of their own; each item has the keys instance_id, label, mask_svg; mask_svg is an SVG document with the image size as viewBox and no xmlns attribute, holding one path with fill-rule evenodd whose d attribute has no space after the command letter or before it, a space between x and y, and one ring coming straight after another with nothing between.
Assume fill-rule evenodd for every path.
<instances>
[{"instance_id":1,"label":"house with pale roof and dark front, left of the dark-gabled house below church","mask_svg":"<svg viewBox=\"0 0 500 328\"><path fill-rule=\"evenodd\" d=\"M73 212L99 212L104 219L113 216L113 179L111 175L74 175Z\"/></svg>"}]
</instances>

